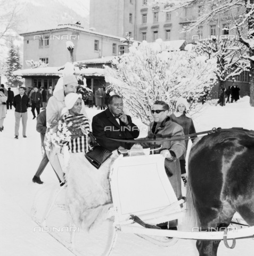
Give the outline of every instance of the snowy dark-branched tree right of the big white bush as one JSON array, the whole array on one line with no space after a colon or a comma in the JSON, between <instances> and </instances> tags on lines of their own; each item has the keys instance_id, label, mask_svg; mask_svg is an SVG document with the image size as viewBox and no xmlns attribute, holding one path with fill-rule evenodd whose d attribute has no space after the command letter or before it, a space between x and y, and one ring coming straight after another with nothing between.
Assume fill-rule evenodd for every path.
<instances>
[{"instance_id":1,"label":"snowy dark-branched tree right of the big white bush","mask_svg":"<svg viewBox=\"0 0 254 256\"><path fill-rule=\"evenodd\" d=\"M239 41L228 38L216 38L197 42L194 50L210 58L217 59L216 76L219 87L222 88L230 77L240 75L242 71L249 70L250 62L245 59L246 47Z\"/></svg>"}]
</instances>

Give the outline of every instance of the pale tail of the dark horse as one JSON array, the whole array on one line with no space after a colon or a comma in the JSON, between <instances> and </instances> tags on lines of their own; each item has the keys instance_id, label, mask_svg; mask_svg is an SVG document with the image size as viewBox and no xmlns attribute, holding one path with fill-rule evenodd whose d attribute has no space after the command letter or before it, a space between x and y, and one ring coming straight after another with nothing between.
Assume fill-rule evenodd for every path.
<instances>
[{"instance_id":1,"label":"pale tail of the dark horse","mask_svg":"<svg viewBox=\"0 0 254 256\"><path fill-rule=\"evenodd\" d=\"M190 182L187 182L186 191L186 218L184 226L187 230L200 227L200 220L196 207L194 205L193 193L191 190Z\"/></svg>"}]
</instances>

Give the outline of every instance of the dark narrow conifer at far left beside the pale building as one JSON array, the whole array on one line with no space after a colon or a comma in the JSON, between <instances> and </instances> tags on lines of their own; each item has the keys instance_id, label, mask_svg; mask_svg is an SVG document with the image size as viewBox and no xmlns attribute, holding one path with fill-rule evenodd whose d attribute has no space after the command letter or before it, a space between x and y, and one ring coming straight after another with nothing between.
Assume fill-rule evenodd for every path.
<instances>
[{"instance_id":1,"label":"dark narrow conifer at far left beside the pale building","mask_svg":"<svg viewBox=\"0 0 254 256\"><path fill-rule=\"evenodd\" d=\"M10 42L10 50L8 52L7 60L5 62L4 75L7 78L7 85L19 86L22 84L22 78L13 75L13 71L21 69L19 48Z\"/></svg>"}]
</instances>

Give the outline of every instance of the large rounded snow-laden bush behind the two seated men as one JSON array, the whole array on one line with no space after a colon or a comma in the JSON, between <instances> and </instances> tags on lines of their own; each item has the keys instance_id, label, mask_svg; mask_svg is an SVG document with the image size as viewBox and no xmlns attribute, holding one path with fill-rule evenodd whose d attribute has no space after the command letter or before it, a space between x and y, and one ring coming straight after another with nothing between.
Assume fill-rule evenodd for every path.
<instances>
[{"instance_id":1,"label":"large rounded snow-laden bush behind the two seated men","mask_svg":"<svg viewBox=\"0 0 254 256\"><path fill-rule=\"evenodd\" d=\"M216 59L208 59L194 51L169 51L161 39L143 41L130 46L129 53L116 57L112 67L105 66L105 81L125 100L125 106L144 124L151 122L151 106L155 100L169 103L184 97L191 108L216 79Z\"/></svg>"}]
</instances>

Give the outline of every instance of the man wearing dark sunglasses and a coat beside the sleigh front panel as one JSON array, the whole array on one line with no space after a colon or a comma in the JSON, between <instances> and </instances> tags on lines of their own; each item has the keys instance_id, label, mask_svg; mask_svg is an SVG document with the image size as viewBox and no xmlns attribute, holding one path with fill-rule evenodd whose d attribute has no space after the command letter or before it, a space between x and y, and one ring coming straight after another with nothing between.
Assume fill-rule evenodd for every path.
<instances>
[{"instance_id":1,"label":"man wearing dark sunglasses and a coat beside the sleigh front panel","mask_svg":"<svg viewBox=\"0 0 254 256\"><path fill-rule=\"evenodd\" d=\"M171 121L169 114L169 106L164 101L155 101L152 106L153 122L149 125L148 138L181 138L184 137L183 127ZM159 136L159 137L158 137ZM155 154L162 154L165 157L165 170L168 175L168 179L175 191L177 199L182 198L181 190L181 167L179 157L185 152L184 140L163 141L160 142L162 148L155 151ZM160 223L157 225L162 229L177 228L177 220Z\"/></svg>"}]
</instances>

